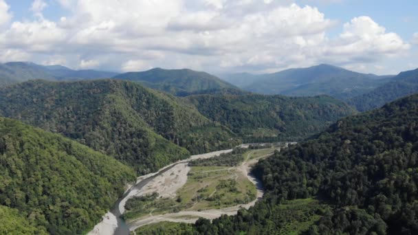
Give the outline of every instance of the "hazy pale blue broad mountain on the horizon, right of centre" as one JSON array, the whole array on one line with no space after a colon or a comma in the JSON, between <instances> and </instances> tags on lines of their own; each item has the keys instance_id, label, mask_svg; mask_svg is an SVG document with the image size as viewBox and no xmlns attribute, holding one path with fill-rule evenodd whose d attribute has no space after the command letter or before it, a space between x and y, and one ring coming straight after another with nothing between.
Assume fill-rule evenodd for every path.
<instances>
[{"instance_id":1,"label":"hazy pale blue broad mountain on the horizon, right of centre","mask_svg":"<svg viewBox=\"0 0 418 235\"><path fill-rule=\"evenodd\" d=\"M239 76L229 81L239 86ZM317 96L326 94L340 100L347 100L371 91L387 82L391 76L360 74L332 65L317 65L303 69L286 69L274 74L249 76L244 81L254 82L241 88L262 94L282 94L285 96ZM249 82L248 82L249 83Z\"/></svg>"}]
</instances>

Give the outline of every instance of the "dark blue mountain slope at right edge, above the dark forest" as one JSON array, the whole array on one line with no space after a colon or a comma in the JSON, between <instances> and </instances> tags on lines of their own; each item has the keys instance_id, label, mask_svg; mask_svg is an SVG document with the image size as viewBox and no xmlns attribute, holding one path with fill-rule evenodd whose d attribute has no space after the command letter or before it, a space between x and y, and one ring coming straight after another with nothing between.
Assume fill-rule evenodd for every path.
<instances>
[{"instance_id":1,"label":"dark blue mountain slope at right edge, above the dark forest","mask_svg":"<svg viewBox=\"0 0 418 235\"><path fill-rule=\"evenodd\" d=\"M413 93L418 93L418 69L401 72L391 82L351 98L348 102L358 111L367 111Z\"/></svg>"}]
</instances>

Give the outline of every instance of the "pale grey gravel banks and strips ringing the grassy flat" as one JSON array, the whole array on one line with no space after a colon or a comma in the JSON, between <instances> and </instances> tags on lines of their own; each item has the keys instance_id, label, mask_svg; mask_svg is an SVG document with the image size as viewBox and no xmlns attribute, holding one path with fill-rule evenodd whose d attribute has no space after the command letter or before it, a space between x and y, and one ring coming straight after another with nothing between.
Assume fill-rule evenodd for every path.
<instances>
[{"instance_id":1,"label":"pale grey gravel banks and strips ringing the grassy flat","mask_svg":"<svg viewBox=\"0 0 418 235\"><path fill-rule=\"evenodd\" d=\"M248 148L250 144L242 144L239 147ZM126 201L133 197L150 194L157 192L161 197L174 197L175 192L184 186L187 181L187 174L190 171L188 167L188 161L194 159L205 159L209 157L219 156L222 153L230 153L232 149L220 150L211 153L205 153L202 155L193 155L188 159L177 161L173 164L165 166L155 173L138 177L136 183L126 190L124 195L118 199L113 205L113 208L107 214L103 216L103 219L98 223L88 235L127 235L130 231L135 231L137 227L147 225L150 223L157 223L160 221L173 221L173 222L185 222L194 223L199 217L206 219L215 219L221 214L236 214L240 208L250 208L259 199L263 197L263 186L261 182L250 174L250 167L253 164L268 155L258 157L256 159L250 159L250 155L247 156L246 160L243 161L241 166L236 167L239 171L246 175L248 179L254 185L256 185L257 193L256 199L250 203L244 205L235 205L230 208L221 208L217 210L203 210L203 211L181 211L177 213L169 213L153 216L142 217L135 221L132 221L130 225L127 225L124 220L120 219L120 216L124 213L124 206ZM270 154L271 155L271 154Z\"/></svg>"}]
</instances>

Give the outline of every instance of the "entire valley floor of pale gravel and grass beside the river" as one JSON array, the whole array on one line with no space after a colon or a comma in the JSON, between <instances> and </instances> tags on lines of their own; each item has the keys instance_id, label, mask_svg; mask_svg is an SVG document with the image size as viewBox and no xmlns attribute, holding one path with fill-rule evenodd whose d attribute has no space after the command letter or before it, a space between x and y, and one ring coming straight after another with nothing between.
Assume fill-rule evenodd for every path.
<instances>
[{"instance_id":1,"label":"entire valley floor of pale gravel and grass beside the river","mask_svg":"<svg viewBox=\"0 0 418 235\"><path fill-rule=\"evenodd\" d=\"M124 198L116 203L116 210L103 216L89 235L124 234L120 227L135 233L138 227L151 223L194 223L199 217L215 219L222 214L236 214L241 208L250 208L263 197L263 186L251 175L250 168L276 149L280 150L280 147L246 150L241 164L233 167L188 166L192 160L216 157L230 153L232 149L194 155L158 172L138 177Z\"/></svg>"}]
</instances>

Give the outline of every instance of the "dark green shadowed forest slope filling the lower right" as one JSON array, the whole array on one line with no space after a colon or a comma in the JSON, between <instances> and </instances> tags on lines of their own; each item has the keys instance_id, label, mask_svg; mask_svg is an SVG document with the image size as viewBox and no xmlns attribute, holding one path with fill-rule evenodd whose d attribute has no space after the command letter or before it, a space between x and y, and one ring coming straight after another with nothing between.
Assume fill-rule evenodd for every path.
<instances>
[{"instance_id":1,"label":"dark green shadowed forest slope filling the lower right","mask_svg":"<svg viewBox=\"0 0 418 235\"><path fill-rule=\"evenodd\" d=\"M417 123L418 95L344 118L261 160L254 173L266 192L254 208L175 229L178 234L288 234L283 230L297 223L308 234L417 234ZM311 197L322 205L289 209ZM288 201L294 199L305 200Z\"/></svg>"}]
</instances>

